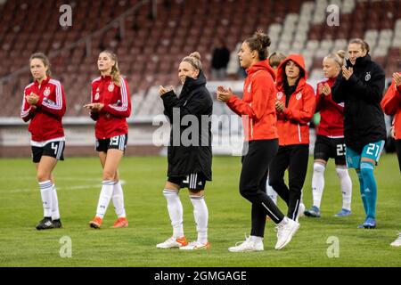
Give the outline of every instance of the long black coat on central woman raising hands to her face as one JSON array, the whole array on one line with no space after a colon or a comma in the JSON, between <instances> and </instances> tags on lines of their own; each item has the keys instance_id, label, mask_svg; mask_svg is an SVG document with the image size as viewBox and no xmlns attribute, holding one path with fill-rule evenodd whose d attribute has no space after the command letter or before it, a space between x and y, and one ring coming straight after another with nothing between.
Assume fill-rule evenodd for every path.
<instances>
[{"instance_id":1,"label":"long black coat on central woman raising hands to her face","mask_svg":"<svg viewBox=\"0 0 401 285\"><path fill-rule=\"evenodd\" d=\"M201 173L210 181L212 176L210 116L213 112L213 101L206 88L206 77L202 71L196 79L186 77L179 97L174 91L169 91L161 98L164 114L171 124L168 177ZM192 123L195 118L198 122L198 132L195 132L196 124Z\"/></svg>"}]
</instances>

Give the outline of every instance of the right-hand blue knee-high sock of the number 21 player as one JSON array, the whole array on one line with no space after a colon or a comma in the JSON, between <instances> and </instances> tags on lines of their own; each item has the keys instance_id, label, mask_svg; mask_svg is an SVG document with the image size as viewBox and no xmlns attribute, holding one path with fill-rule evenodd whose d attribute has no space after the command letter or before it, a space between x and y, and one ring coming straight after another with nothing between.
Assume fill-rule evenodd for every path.
<instances>
[{"instance_id":1,"label":"right-hand blue knee-high sock of the number 21 player","mask_svg":"<svg viewBox=\"0 0 401 285\"><path fill-rule=\"evenodd\" d=\"M377 185L373 176L374 166L372 163L361 162L361 174L364 179L364 196L366 197L366 217L376 218Z\"/></svg>"}]
</instances>

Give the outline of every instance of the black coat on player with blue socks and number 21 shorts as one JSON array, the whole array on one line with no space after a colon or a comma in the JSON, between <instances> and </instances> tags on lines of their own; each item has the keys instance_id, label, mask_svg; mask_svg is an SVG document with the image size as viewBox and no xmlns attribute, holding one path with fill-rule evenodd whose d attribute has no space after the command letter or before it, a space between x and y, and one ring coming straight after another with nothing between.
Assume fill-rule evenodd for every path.
<instances>
[{"instance_id":1,"label":"black coat on player with blue socks and number 21 shorts","mask_svg":"<svg viewBox=\"0 0 401 285\"><path fill-rule=\"evenodd\" d=\"M340 72L331 88L331 97L334 102L344 102L345 142L350 149L360 152L368 143L386 140L381 109L385 74L369 54L357 58L355 65L348 60L347 67L353 67L353 75L346 80Z\"/></svg>"}]
</instances>

